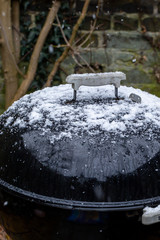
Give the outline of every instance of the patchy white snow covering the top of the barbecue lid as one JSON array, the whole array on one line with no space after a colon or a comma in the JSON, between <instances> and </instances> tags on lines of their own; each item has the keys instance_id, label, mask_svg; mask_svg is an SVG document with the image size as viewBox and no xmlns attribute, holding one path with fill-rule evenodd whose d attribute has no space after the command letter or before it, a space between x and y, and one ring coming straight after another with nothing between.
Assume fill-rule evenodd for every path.
<instances>
[{"instance_id":1,"label":"patchy white snow covering the top of the barbecue lid","mask_svg":"<svg viewBox=\"0 0 160 240\"><path fill-rule=\"evenodd\" d=\"M129 95L135 93L142 103L133 103ZM71 84L45 88L25 95L15 102L0 121L4 127L32 128L41 133L54 132L54 138L72 137L80 131L88 134L111 132L124 136L128 129L150 132L160 129L160 99L132 87L121 86L114 100L114 87L81 87L77 101L69 103Z\"/></svg>"}]
</instances>

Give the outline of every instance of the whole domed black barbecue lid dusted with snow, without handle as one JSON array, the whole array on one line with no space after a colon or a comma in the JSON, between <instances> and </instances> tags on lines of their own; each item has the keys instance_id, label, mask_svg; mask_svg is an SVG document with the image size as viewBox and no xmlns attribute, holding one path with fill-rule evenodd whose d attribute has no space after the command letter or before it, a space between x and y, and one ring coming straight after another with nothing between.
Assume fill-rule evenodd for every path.
<instances>
[{"instance_id":1,"label":"whole domed black barbecue lid dusted with snow, without handle","mask_svg":"<svg viewBox=\"0 0 160 240\"><path fill-rule=\"evenodd\" d=\"M141 103L132 101L131 93ZM0 117L0 187L62 208L160 203L160 99L70 84L26 95Z\"/></svg>"}]
</instances>

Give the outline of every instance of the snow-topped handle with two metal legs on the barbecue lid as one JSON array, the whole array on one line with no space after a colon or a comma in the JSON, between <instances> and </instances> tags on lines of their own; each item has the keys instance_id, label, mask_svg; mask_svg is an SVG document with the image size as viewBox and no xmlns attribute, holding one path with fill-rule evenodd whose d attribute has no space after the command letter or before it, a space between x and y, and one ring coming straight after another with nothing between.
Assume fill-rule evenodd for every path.
<instances>
[{"instance_id":1,"label":"snow-topped handle with two metal legs on the barbecue lid","mask_svg":"<svg viewBox=\"0 0 160 240\"><path fill-rule=\"evenodd\" d=\"M71 74L66 78L66 82L71 83L74 89L74 101L76 101L77 90L80 86L93 87L113 84L115 86L115 96L118 98L118 88L121 80L126 80L126 74L123 72Z\"/></svg>"}]
</instances>

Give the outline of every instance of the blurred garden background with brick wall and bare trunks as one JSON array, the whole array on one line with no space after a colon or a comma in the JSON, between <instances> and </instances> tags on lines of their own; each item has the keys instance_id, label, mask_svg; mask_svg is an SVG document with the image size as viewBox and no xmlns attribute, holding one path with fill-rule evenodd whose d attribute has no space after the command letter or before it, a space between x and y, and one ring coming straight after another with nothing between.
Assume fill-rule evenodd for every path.
<instances>
[{"instance_id":1,"label":"blurred garden background with brick wall and bare trunks","mask_svg":"<svg viewBox=\"0 0 160 240\"><path fill-rule=\"evenodd\" d=\"M0 113L71 73L122 71L160 96L158 0L0 0Z\"/></svg>"}]
</instances>

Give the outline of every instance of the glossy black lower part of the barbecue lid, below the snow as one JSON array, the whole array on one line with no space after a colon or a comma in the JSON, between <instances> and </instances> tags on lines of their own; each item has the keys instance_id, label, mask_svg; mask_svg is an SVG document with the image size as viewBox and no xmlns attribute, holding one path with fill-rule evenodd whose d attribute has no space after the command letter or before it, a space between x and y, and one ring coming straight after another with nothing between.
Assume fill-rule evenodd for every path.
<instances>
[{"instance_id":1,"label":"glossy black lower part of the barbecue lid, below the snow","mask_svg":"<svg viewBox=\"0 0 160 240\"><path fill-rule=\"evenodd\" d=\"M0 143L1 187L21 197L91 210L160 203L157 139L130 134L113 141L113 136L99 134L65 139L53 147L48 135L12 129L0 135Z\"/></svg>"}]
</instances>

